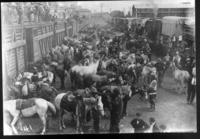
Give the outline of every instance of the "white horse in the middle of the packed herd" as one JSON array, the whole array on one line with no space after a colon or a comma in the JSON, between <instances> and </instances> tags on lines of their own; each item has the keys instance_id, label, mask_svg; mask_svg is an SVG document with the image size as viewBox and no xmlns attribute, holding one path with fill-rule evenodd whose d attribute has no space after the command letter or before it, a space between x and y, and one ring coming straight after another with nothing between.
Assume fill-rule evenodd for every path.
<instances>
[{"instance_id":1,"label":"white horse in the middle of the packed herd","mask_svg":"<svg viewBox=\"0 0 200 139\"><path fill-rule=\"evenodd\" d=\"M79 73L81 76L88 74L96 74L98 66L99 66L99 60L97 60L95 63L94 62L91 63L88 66L75 65L71 68L71 70L73 72Z\"/></svg>"}]
</instances>

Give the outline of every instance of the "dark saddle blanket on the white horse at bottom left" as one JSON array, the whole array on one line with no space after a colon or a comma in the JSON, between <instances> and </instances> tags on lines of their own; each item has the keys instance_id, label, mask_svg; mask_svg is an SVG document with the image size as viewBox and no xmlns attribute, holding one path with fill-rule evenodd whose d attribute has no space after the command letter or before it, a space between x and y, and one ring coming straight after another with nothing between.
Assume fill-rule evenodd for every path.
<instances>
[{"instance_id":1,"label":"dark saddle blanket on the white horse at bottom left","mask_svg":"<svg viewBox=\"0 0 200 139\"><path fill-rule=\"evenodd\" d=\"M34 98L30 98L30 99L18 99L16 100L16 109L17 110L23 110L26 108L30 108L32 106L35 105L35 100Z\"/></svg>"}]
</instances>

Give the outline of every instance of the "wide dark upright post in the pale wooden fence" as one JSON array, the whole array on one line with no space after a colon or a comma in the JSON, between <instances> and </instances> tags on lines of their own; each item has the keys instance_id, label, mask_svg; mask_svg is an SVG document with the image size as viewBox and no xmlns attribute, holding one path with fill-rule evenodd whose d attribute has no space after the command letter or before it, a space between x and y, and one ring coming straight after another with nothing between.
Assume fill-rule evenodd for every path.
<instances>
[{"instance_id":1,"label":"wide dark upright post in the pale wooden fence","mask_svg":"<svg viewBox=\"0 0 200 139\"><path fill-rule=\"evenodd\" d=\"M27 68L30 68L30 63L34 61L33 29L32 27L29 27L25 28L25 30L26 30L25 58L27 59Z\"/></svg>"}]
</instances>

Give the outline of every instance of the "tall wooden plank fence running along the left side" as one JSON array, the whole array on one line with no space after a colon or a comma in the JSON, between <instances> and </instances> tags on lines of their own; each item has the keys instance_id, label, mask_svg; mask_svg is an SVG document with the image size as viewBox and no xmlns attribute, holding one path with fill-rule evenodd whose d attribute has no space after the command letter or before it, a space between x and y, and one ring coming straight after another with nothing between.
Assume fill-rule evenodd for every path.
<instances>
[{"instance_id":1,"label":"tall wooden plank fence running along the left side","mask_svg":"<svg viewBox=\"0 0 200 139\"><path fill-rule=\"evenodd\" d=\"M53 46L61 44L64 36L72 37L87 23L51 22L5 27L2 59L6 76L15 77L25 71L30 63L42 59Z\"/></svg>"}]
</instances>

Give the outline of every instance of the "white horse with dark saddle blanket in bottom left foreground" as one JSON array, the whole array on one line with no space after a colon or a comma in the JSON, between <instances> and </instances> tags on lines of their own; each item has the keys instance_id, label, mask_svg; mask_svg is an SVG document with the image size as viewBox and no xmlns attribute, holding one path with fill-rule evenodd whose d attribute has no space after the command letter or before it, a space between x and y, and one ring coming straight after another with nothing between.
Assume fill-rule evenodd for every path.
<instances>
[{"instance_id":1,"label":"white horse with dark saddle blanket in bottom left foreground","mask_svg":"<svg viewBox=\"0 0 200 139\"><path fill-rule=\"evenodd\" d=\"M19 120L20 116L31 117L34 114L38 114L43 123L43 130L41 134L46 132L46 120L47 111L50 108L53 114L56 114L56 108L51 103L42 98L31 98L31 99L15 99L8 100L4 102L4 112L9 113L13 116L13 120L10 124L14 134L18 134L15 128L16 122ZM6 118L6 117L5 117Z\"/></svg>"}]
</instances>

